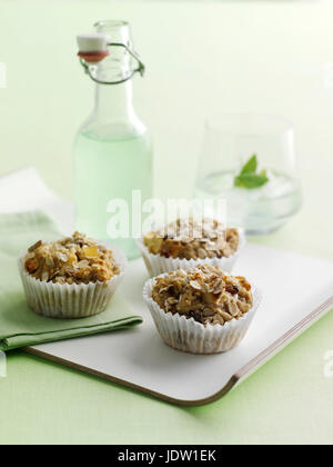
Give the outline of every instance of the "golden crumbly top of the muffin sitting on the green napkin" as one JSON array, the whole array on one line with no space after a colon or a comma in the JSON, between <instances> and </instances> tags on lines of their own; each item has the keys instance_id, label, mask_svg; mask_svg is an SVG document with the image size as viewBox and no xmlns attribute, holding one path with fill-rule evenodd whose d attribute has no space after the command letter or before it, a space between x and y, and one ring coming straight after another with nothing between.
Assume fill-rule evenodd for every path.
<instances>
[{"instance_id":1,"label":"golden crumbly top of the muffin sitting on the green napkin","mask_svg":"<svg viewBox=\"0 0 333 467\"><path fill-rule=\"evenodd\" d=\"M120 274L112 251L79 232L52 244L38 241L29 248L24 267L40 281L69 285L104 282Z\"/></svg>"}]
</instances>

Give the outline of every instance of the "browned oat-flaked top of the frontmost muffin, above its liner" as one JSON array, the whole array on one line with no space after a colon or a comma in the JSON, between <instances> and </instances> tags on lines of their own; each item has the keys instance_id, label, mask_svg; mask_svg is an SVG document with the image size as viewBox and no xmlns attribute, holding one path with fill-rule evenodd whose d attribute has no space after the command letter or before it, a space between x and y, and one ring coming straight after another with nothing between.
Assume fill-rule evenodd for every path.
<instances>
[{"instance_id":1,"label":"browned oat-flaked top of the frontmost muffin, above its liner","mask_svg":"<svg viewBox=\"0 0 333 467\"><path fill-rule=\"evenodd\" d=\"M193 318L204 326L239 320L253 307L251 285L245 278L226 276L211 266L157 278L151 297L165 312Z\"/></svg>"}]
</instances>

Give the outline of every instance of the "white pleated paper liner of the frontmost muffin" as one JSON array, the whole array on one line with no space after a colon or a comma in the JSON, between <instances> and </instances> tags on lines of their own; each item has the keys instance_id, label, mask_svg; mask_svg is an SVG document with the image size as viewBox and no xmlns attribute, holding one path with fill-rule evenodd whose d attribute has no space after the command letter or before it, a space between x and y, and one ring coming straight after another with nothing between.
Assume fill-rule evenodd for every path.
<instances>
[{"instance_id":1,"label":"white pleated paper liner of the frontmost muffin","mask_svg":"<svg viewBox=\"0 0 333 467\"><path fill-rule=\"evenodd\" d=\"M236 347L244 339L262 301L261 291L252 285L253 307L246 315L240 319L232 319L223 326L203 326L193 318L162 310L151 297L155 280L157 278L149 279L145 282L143 298L158 331L168 346L190 354L220 354Z\"/></svg>"}]
</instances>

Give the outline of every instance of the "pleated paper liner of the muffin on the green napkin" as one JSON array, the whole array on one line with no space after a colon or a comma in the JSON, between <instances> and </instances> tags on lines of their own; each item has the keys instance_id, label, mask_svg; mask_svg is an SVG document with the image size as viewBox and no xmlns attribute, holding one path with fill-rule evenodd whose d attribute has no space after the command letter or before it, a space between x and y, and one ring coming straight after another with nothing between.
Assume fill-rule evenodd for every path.
<instances>
[{"instance_id":1,"label":"pleated paper liner of the muffin on the green napkin","mask_svg":"<svg viewBox=\"0 0 333 467\"><path fill-rule=\"evenodd\" d=\"M36 279L24 268L24 256L19 259L19 271L29 307L47 318L88 318L104 311L123 279L127 259L113 245L108 246L120 274L107 282L53 284Z\"/></svg>"}]
</instances>

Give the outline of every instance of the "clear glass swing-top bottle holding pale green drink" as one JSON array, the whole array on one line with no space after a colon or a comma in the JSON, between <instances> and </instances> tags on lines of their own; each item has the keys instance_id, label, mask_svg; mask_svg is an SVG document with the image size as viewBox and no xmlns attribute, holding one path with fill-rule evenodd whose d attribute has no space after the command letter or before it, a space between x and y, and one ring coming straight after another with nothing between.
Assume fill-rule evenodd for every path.
<instances>
[{"instance_id":1,"label":"clear glass swing-top bottle holding pale green drink","mask_svg":"<svg viewBox=\"0 0 333 467\"><path fill-rule=\"evenodd\" d=\"M112 43L132 49L129 23L102 21L95 28ZM141 191L142 202L152 196L152 147L133 108L132 80L128 79L133 73L131 56L125 48L111 49L110 56L95 64L94 108L74 143L75 227L101 241L111 240L133 259L139 250L132 238L132 191ZM129 237L112 238L108 230L112 216L108 206L115 199L127 202L123 215L129 217Z\"/></svg>"}]
</instances>

